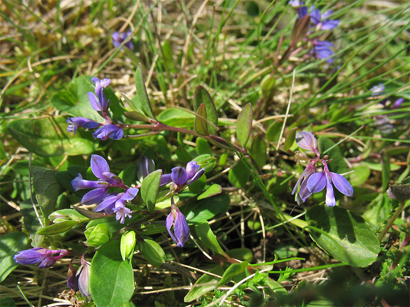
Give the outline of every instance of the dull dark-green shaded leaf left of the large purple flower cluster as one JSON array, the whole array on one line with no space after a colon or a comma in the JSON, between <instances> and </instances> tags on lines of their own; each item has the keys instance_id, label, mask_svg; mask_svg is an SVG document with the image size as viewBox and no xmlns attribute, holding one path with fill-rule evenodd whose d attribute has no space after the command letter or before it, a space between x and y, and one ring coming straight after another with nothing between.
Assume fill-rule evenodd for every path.
<instances>
[{"instance_id":1,"label":"dull dark-green shaded leaf left of the large purple flower cluster","mask_svg":"<svg viewBox=\"0 0 410 307\"><path fill-rule=\"evenodd\" d=\"M63 187L57 182L57 171L40 166L31 166L30 173L33 178L35 197L43 212L45 220L54 211L58 195L64 192Z\"/></svg>"}]
</instances>

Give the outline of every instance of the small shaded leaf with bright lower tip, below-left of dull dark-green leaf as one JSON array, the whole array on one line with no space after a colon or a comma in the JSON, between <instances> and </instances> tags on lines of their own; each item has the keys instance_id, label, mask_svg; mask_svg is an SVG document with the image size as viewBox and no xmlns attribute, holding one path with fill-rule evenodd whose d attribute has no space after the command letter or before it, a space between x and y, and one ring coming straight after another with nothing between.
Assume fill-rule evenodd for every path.
<instances>
[{"instance_id":1,"label":"small shaded leaf with bright lower tip, below-left of dull dark-green leaf","mask_svg":"<svg viewBox=\"0 0 410 307\"><path fill-rule=\"evenodd\" d=\"M46 225L44 217L41 214L40 206L35 204L35 207L43 225ZM24 228L30 234L30 239L32 240L31 245L33 247L39 247L43 243L44 236L37 234L37 231L41 229L42 226L40 225L40 222L38 222L38 218L30 201L20 203L20 213L23 215Z\"/></svg>"}]
</instances>

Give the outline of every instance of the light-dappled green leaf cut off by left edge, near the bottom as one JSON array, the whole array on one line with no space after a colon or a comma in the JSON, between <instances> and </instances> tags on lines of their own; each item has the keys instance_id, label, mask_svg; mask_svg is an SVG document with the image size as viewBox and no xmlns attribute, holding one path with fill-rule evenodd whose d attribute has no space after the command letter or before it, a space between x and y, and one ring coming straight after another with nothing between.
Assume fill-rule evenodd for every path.
<instances>
[{"instance_id":1,"label":"light-dappled green leaf cut off by left edge, near the bottom","mask_svg":"<svg viewBox=\"0 0 410 307\"><path fill-rule=\"evenodd\" d=\"M27 249L29 238L24 232L10 232L0 240L0 282L2 282L18 264L13 259L19 251Z\"/></svg>"}]
</instances>

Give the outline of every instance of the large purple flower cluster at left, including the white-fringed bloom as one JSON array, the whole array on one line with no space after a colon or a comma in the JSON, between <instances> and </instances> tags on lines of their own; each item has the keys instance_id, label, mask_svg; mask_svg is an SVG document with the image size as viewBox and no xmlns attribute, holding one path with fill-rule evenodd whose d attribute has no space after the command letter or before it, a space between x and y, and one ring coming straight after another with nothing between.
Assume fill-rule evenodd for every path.
<instances>
[{"instance_id":1,"label":"large purple flower cluster at left, including the white-fringed bloom","mask_svg":"<svg viewBox=\"0 0 410 307\"><path fill-rule=\"evenodd\" d=\"M116 214L116 220L124 224L125 217L131 217L131 210L126 207L127 201L131 201L138 193L137 188L130 188L114 173L110 172L107 161L98 155L91 155L91 171L98 178L97 181L85 180L78 173L78 177L71 181L74 190L93 189L87 192L81 199L84 205L98 204L94 211L103 211L107 214ZM110 187L125 189L124 192L109 193Z\"/></svg>"}]
</instances>

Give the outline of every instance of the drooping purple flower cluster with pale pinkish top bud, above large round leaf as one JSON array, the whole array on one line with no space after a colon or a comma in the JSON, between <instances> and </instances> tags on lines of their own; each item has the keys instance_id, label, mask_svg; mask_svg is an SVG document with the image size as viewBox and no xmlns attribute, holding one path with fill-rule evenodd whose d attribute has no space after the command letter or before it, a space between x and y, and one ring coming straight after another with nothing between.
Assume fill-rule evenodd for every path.
<instances>
[{"instance_id":1,"label":"drooping purple flower cluster with pale pinkish top bud, above large round leaf","mask_svg":"<svg viewBox=\"0 0 410 307\"><path fill-rule=\"evenodd\" d=\"M320 159L318 143L312 133L309 131L298 131L296 134L296 143L300 148L306 150L305 153L316 155L316 158L308 159L308 165L293 188L292 194L295 194L300 185L299 192L296 194L296 201L299 205L305 202L312 193L320 192L326 187L325 203L327 207L335 206L336 200L333 185L344 195L353 195L353 188L347 179L338 173L329 171L326 162L327 156ZM322 172L316 172L316 163L323 165Z\"/></svg>"}]
</instances>

